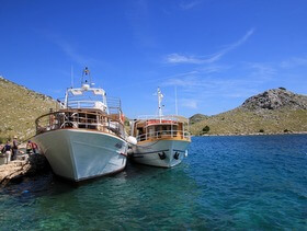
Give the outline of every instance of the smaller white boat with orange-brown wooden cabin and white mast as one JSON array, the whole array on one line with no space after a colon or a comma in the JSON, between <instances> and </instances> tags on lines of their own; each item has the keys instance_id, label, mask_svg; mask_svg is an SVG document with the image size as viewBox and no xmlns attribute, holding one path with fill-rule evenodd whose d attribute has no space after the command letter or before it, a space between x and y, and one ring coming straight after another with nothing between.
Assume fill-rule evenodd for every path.
<instances>
[{"instance_id":1,"label":"smaller white boat with orange-brown wooden cabin and white mast","mask_svg":"<svg viewBox=\"0 0 307 231\"><path fill-rule=\"evenodd\" d=\"M132 146L132 158L141 164L172 168L187 157L191 142L189 119L182 116L163 116L162 97L158 89L158 116L141 116L132 123L132 136L137 139L137 145Z\"/></svg>"}]
</instances>

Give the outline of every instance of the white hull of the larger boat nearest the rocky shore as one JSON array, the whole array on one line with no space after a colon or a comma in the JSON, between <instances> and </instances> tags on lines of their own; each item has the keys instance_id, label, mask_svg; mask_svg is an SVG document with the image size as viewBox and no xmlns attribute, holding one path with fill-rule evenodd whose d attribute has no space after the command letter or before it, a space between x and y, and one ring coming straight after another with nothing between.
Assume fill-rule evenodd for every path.
<instances>
[{"instance_id":1,"label":"white hull of the larger boat nearest the rocky shore","mask_svg":"<svg viewBox=\"0 0 307 231\"><path fill-rule=\"evenodd\" d=\"M127 142L82 129L58 129L34 137L55 174L76 182L118 172L126 166Z\"/></svg>"}]
</instances>

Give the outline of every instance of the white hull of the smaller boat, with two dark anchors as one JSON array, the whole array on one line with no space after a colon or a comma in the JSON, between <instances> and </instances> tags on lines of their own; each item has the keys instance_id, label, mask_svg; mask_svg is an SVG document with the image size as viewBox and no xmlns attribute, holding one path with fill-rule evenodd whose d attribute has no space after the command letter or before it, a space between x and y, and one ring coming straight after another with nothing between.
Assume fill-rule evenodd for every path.
<instances>
[{"instance_id":1,"label":"white hull of the smaller boat, with two dark anchors","mask_svg":"<svg viewBox=\"0 0 307 231\"><path fill-rule=\"evenodd\" d=\"M138 143L133 147L133 160L137 163L172 168L187 154L189 141L184 140L155 140Z\"/></svg>"}]
</instances>

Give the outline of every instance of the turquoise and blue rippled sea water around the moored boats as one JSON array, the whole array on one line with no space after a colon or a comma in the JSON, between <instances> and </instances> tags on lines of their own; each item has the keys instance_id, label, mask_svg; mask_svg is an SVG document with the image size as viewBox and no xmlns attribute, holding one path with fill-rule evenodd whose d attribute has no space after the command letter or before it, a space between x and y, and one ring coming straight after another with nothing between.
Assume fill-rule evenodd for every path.
<instances>
[{"instance_id":1,"label":"turquoise and blue rippled sea water around the moored boats","mask_svg":"<svg viewBox=\"0 0 307 231\"><path fill-rule=\"evenodd\" d=\"M194 137L174 169L0 188L0 230L307 230L307 136Z\"/></svg>"}]
</instances>

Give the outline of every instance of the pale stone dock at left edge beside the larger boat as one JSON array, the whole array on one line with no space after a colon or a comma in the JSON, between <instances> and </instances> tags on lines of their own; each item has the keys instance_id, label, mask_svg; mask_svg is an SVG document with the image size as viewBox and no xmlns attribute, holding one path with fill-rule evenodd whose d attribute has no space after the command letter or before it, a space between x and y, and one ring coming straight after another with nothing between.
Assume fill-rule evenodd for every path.
<instances>
[{"instance_id":1,"label":"pale stone dock at left edge beside the larger boat","mask_svg":"<svg viewBox=\"0 0 307 231\"><path fill-rule=\"evenodd\" d=\"M18 160L0 165L0 185L7 185L11 181L48 171L50 171L50 166L43 154L19 157Z\"/></svg>"}]
</instances>

